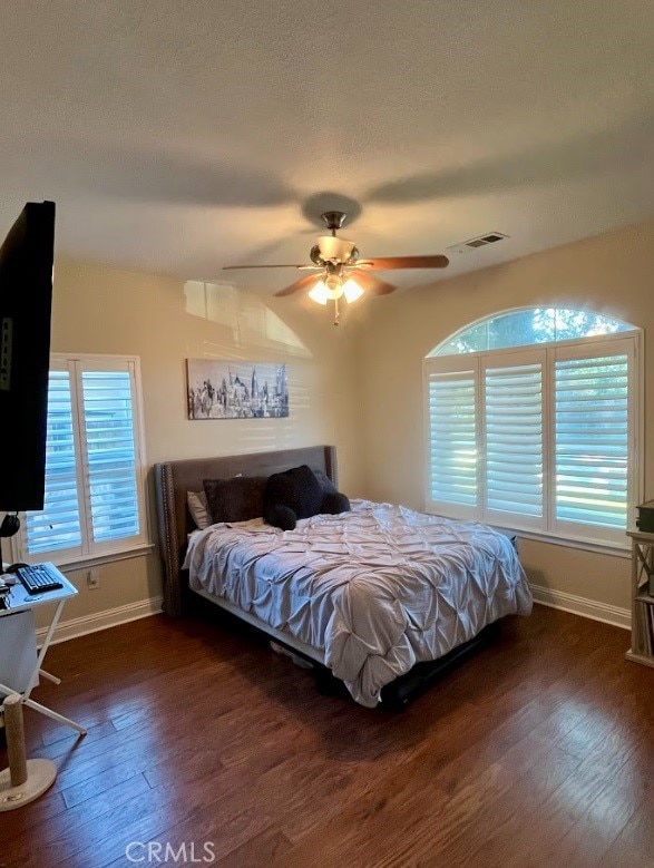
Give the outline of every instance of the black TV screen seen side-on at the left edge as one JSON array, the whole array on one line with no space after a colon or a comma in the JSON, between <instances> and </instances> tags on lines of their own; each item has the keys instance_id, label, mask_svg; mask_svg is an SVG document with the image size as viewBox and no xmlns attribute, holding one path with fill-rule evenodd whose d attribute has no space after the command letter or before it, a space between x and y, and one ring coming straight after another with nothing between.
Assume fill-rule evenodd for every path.
<instances>
[{"instance_id":1,"label":"black TV screen seen side-on at the left edge","mask_svg":"<svg viewBox=\"0 0 654 868\"><path fill-rule=\"evenodd\" d=\"M43 508L55 203L28 202L0 247L0 509Z\"/></svg>"}]
</instances>

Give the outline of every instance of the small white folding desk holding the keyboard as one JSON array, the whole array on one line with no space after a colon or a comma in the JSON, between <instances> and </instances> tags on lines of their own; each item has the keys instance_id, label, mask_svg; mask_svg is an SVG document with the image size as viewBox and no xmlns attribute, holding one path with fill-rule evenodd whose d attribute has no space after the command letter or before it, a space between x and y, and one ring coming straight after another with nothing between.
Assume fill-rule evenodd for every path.
<instances>
[{"instance_id":1,"label":"small white folding desk holding the keyboard","mask_svg":"<svg viewBox=\"0 0 654 868\"><path fill-rule=\"evenodd\" d=\"M59 572L52 564L49 564L49 566L56 572ZM50 642L52 641L52 636L55 635L55 630L57 628L57 624L59 623L59 618L61 617L64 604L66 603L67 599L70 599L77 594L77 588L70 584L70 582L66 578L66 576L59 573L59 578L64 587L57 588L55 591L48 591L45 594L35 594L33 596L28 594L27 591L23 588L23 586L19 582L17 582L17 584L13 585L13 587L11 588L11 593L6 598L8 607L0 609L0 630L2 630L2 620L8 615L12 615L18 612L31 612L32 609L36 609L39 606L47 606L47 605L55 604L55 613L50 621L50 625L48 627L48 632L46 633L46 637L43 638L43 644L41 645L41 648L38 653L33 666L33 671L28 677L27 689L13 690L13 687L10 684L0 684L0 699L2 699L3 696L8 696L10 693L21 693L23 699L23 704L27 705L28 709L33 709L33 711L38 711L40 714L45 714L47 718L57 721L57 723L61 723L66 726L71 726L74 730L77 730L77 732L84 735L86 734L86 730L84 729L84 726L80 726L79 723L69 720L68 718L65 718L62 714L58 714L56 711L52 711L51 709L46 708L46 705L41 705L40 703L35 702L32 699L30 699L31 692L39 680L39 674L48 679L48 681L53 681L56 684L59 684L59 679L56 679L53 675L50 675L48 672L45 672L41 669L43 659L48 653Z\"/></svg>"}]
</instances>

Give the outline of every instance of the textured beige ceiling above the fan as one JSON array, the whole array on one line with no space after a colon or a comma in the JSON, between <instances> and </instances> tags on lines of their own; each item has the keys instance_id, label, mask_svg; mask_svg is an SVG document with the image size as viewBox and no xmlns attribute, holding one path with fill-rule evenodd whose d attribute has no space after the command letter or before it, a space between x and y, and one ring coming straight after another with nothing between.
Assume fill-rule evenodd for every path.
<instances>
[{"instance_id":1,"label":"textured beige ceiling above the fan","mask_svg":"<svg viewBox=\"0 0 654 868\"><path fill-rule=\"evenodd\" d=\"M0 233L51 198L59 254L273 291L221 266L344 201L363 255L515 259L654 212L653 58L651 0L6 3Z\"/></svg>"}]
</instances>

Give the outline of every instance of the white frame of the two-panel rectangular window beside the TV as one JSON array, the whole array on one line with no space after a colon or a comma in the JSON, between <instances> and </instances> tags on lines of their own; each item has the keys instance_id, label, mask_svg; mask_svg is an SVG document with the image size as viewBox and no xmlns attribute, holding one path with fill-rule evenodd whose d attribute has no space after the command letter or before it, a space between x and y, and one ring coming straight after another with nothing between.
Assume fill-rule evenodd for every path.
<instances>
[{"instance_id":1,"label":"white frame of the two-panel rectangular window beside the TV","mask_svg":"<svg viewBox=\"0 0 654 868\"><path fill-rule=\"evenodd\" d=\"M68 371L70 377L70 401L72 408L72 429L76 453L76 476L79 505L81 544L71 548L57 548L49 552L28 553L27 519L21 517L21 529L12 539L12 554L18 560L38 563L50 560L58 566L81 567L99 563L133 557L152 549L149 520L146 498L146 452L143 415L143 389L140 381L140 359L138 355L100 355L91 353L51 353L50 370ZM129 372L131 387L131 412L134 448L136 464L136 497L139 533L121 539L94 542L90 513L90 488L88 485L88 460L86 438L82 436L84 401L81 376L86 371Z\"/></svg>"}]
</instances>

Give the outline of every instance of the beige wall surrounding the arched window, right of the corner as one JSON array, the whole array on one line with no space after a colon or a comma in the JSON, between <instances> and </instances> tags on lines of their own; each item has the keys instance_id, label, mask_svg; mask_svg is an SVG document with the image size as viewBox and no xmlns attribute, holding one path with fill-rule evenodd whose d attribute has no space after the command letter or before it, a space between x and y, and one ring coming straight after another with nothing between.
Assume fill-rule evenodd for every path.
<instances>
[{"instance_id":1,"label":"beige wall surrounding the arched window, right of the corner","mask_svg":"<svg viewBox=\"0 0 654 868\"><path fill-rule=\"evenodd\" d=\"M654 332L654 222L430 286L377 299L361 324L367 494L423 508L422 359L466 324L530 305L589 308ZM646 368L646 365L645 365ZM647 373L647 372L646 372ZM654 378L645 373L645 448L654 452ZM654 497L654 461L645 497ZM548 588L629 606L629 564L523 542L523 562Z\"/></svg>"}]
</instances>

